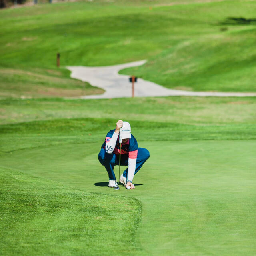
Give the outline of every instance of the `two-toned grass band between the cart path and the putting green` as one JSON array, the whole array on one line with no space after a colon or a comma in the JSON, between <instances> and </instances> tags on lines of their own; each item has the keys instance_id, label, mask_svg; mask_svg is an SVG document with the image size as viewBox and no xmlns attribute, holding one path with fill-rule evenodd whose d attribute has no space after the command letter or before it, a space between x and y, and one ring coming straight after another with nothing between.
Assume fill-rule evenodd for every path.
<instances>
[{"instance_id":1,"label":"two-toned grass band between the cart path and the putting green","mask_svg":"<svg viewBox=\"0 0 256 256\"><path fill-rule=\"evenodd\" d=\"M139 141L255 139L255 109L255 98L1 100L0 152L100 144L120 118Z\"/></svg>"}]
</instances>

